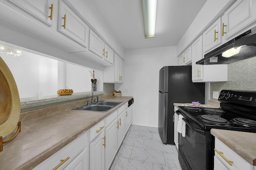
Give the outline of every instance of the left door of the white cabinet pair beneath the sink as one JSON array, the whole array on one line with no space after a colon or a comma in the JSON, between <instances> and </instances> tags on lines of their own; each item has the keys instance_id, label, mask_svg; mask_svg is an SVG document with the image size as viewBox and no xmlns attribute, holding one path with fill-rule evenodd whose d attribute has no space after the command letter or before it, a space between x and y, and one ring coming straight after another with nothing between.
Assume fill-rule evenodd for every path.
<instances>
[{"instance_id":1,"label":"left door of the white cabinet pair beneath the sink","mask_svg":"<svg viewBox=\"0 0 256 170\"><path fill-rule=\"evenodd\" d=\"M117 119L115 119L106 129L105 148L105 169L108 170L117 152Z\"/></svg>"}]
</instances>

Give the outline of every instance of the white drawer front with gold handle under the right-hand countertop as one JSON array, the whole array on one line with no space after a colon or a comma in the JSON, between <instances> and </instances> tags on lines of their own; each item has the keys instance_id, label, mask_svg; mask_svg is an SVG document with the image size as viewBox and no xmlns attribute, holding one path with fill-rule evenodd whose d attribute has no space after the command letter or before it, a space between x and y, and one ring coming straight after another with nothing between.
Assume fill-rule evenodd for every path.
<instances>
[{"instance_id":1,"label":"white drawer front with gold handle under the right-hand countertop","mask_svg":"<svg viewBox=\"0 0 256 170\"><path fill-rule=\"evenodd\" d=\"M252 170L252 165L249 164L244 158L239 156L236 152L215 138L215 149L223 152L223 156L230 161L233 161L232 166L228 164L215 150L215 156L229 169L229 170Z\"/></svg>"}]
</instances>

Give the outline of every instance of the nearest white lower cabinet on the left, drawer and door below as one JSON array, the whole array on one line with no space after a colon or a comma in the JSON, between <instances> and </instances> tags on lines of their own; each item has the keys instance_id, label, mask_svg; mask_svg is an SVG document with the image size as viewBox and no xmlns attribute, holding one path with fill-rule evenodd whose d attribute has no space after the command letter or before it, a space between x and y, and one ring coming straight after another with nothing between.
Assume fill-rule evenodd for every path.
<instances>
[{"instance_id":1,"label":"nearest white lower cabinet on the left, drawer and door below","mask_svg":"<svg viewBox=\"0 0 256 170\"><path fill-rule=\"evenodd\" d=\"M44 160L34 170L50 170L57 166L59 166L58 170L89 170L88 132L83 133L80 137Z\"/></svg>"}]
</instances>

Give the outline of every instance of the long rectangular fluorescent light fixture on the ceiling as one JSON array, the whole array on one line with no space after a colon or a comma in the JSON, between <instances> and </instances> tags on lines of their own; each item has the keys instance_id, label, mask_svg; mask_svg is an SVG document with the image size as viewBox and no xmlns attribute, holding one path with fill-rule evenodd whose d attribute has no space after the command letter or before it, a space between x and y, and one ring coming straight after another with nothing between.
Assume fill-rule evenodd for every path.
<instances>
[{"instance_id":1,"label":"long rectangular fluorescent light fixture on the ceiling","mask_svg":"<svg viewBox=\"0 0 256 170\"><path fill-rule=\"evenodd\" d=\"M145 38L155 37L156 0L140 0Z\"/></svg>"}]
</instances>

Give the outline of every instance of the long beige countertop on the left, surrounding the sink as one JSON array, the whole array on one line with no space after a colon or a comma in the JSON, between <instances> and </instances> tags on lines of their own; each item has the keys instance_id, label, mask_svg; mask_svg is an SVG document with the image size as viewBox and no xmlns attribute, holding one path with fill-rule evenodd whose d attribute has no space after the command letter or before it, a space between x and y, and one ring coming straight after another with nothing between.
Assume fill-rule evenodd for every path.
<instances>
[{"instance_id":1,"label":"long beige countertop on the left, surrounding the sink","mask_svg":"<svg viewBox=\"0 0 256 170\"><path fill-rule=\"evenodd\" d=\"M107 112L78 111L85 100L21 113L21 132L0 152L0 169L32 169L79 135L96 125L132 97L107 96L100 100L122 101ZM5 137L3 140L5 141Z\"/></svg>"}]
</instances>

